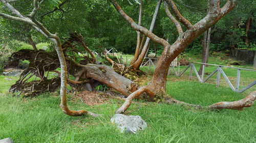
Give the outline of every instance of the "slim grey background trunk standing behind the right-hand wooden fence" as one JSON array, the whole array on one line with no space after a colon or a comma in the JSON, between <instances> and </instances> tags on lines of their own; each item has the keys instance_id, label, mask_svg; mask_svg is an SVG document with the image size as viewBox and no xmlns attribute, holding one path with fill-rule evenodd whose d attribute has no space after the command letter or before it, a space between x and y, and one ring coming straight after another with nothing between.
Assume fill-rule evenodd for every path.
<instances>
[{"instance_id":1,"label":"slim grey background trunk standing behind the right-hand wooden fence","mask_svg":"<svg viewBox=\"0 0 256 143\"><path fill-rule=\"evenodd\" d=\"M202 49L203 49L202 63L207 63L209 59L210 31L211 31L211 28L209 28L206 32L204 32L204 37L202 40ZM201 65L198 74L201 75L202 70L203 70L203 65Z\"/></svg>"}]
</instances>

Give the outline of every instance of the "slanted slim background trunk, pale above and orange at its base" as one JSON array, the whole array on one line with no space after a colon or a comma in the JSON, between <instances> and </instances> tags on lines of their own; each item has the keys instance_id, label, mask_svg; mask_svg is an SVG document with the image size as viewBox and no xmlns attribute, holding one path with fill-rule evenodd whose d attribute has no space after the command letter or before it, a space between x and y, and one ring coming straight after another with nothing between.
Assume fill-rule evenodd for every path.
<instances>
[{"instance_id":1,"label":"slanted slim background trunk, pale above and orange at its base","mask_svg":"<svg viewBox=\"0 0 256 143\"><path fill-rule=\"evenodd\" d=\"M156 9L155 9L155 13L154 13L154 16L153 16L153 19L152 19L152 22L151 22L151 26L150 26L150 32L153 32L154 30L154 26L155 26L155 23L156 23L156 19L157 19L157 15L158 15L158 12L159 12L159 9L160 9L160 6L161 6L161 3L162 1L159 0L158 3L157 3L157 6L156 6ZM134 68L135 70L138 70L140 68L140 65L145 57L145 54L147 52L147 49L148 49L148 45L150 45L150 38L146 38L146 42L143 46L143 49L139 55L139 58L137 59L136 62L134 62L133 64L130 65L130 67Z\"/></svg>"}]
</instances>

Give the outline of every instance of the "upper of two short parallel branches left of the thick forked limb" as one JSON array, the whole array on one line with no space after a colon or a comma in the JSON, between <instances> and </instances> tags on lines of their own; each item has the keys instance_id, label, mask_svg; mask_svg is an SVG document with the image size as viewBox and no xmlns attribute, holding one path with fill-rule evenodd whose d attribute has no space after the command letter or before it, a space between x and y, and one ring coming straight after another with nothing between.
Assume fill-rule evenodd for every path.
<instances>
[{"instance_id":1,"label":"upper of two short parallel branches left of the thick forked limb","mask_svg":"<svg viewBox=\"0 0 256 143\"><path fill-rule=\"evenodd\" d=\"M194 26L185 18L183 17L178 8L176 7L175 3L172 0L164 0L169 6L170 9L174 12L175 17L188 29L191 30Z\"/></svg>"}]
</instances>

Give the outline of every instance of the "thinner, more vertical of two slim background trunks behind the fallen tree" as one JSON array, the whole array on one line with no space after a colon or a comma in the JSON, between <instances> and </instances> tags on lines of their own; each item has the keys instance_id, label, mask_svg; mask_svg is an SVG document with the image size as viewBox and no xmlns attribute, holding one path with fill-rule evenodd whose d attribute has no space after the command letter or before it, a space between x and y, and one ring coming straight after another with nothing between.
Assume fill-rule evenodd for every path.
<instances>
[{"instance_id":1,"label":"thinner, more vertical of two slim background trunks behind the fallen tree","mask_svg":"<svg viewBox=\"0 0 256 143\"><path fill-rule=\"evenodd\" d=\"M140 12L139 12L138 25L141 25L142 10L143 10L142 0L140 0ZM140 54L139 50L140 50L140 32L137 31L137 46L136 46L136 51L135 51L134 58L133 58L131 64L133 64L134 62L137 61L139 54Z\"/></svg>"}]
</instances>

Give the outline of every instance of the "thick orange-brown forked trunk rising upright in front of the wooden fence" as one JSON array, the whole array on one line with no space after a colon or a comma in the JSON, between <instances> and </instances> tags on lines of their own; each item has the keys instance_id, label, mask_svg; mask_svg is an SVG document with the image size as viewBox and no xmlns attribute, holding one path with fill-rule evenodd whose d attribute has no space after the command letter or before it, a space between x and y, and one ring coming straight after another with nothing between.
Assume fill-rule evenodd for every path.
<instances>
[{"instance_id":1,"label":"thick orange-brown forked trunk rising upright in front of the wooden fence","mask_svg":"<svg viewBox=\"0 0 256 143\"><path fill-rule=\"evenodd\" d=\"M151 38L151 40L155 41L158 44L161 44L164 47L162 55L159 59L158 66L156 67L155 73L150 83L147 84L146 87L139 88L137 91L133 92L129 97L126 98L124 104L116 111L117 113L123 113L131 104L132 100L143 93L146 93L148 97L152 100L156 100L159 98L163 98L165 95L165 84L166 84L166 77L168 68L170 63L180 54L189 43L191 43L194 39L196 39L199 35L205 32L208 28L213 26L215 23L218 22L223 16L225 16L236 4L236 1L227 1L226 4L220 8L220 1L209 1L209 8L207 15L201 19L196 24L191 24L185 17L183 17L178 8L176 7L175 3L170 0L166 0L165 2L170 6L172 9L175 17L181 22L185 27L186 31L183 32L178 24L178 21L172 18L172 15L167 12L168 17L175 21L177 30L179 32L178 39L174 42L173 45L170 45L166 40L159 38L152 32L148 31L145 27L142 27L134 22L134 20L126 15L121 7L114 1L110 0L113 6L116 8L118 13L136 30L147 37ZM168 10L167 10L168 11ZM256 95L251 95L252 100L255 99ZM177 102L177 101L174 101ZM183 104L183 102L179 102ZM233 108L237 109L238 107L241 108L241 104L229 104L227 102L223 102L226 106L221 106L219 103L215 104L214 106L208 106L209 108ZM250 103L249 103L250 104ZM230 107L231 106L231 107Z\"/></svg>"}]
</instances>

